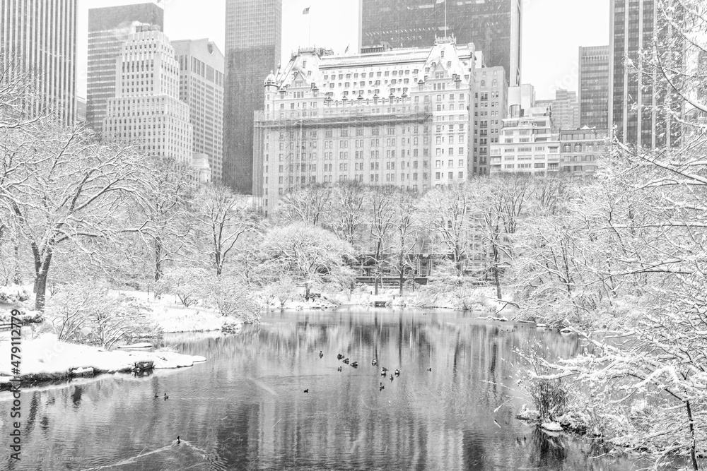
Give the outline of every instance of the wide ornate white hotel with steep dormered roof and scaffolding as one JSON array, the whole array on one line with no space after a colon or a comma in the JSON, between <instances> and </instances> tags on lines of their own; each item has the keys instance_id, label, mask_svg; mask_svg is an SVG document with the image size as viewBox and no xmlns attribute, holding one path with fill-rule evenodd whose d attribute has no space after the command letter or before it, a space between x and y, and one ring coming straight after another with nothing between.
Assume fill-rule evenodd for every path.
<instances>
[{"instance_id":1,"label":"wide ornate white hotel with steep dormered roof and scaffolding","mask_svg":"<svg viewBox=\"0 0 707 471\"><path fill-rule=\"evenodd\" d=\"M267 212L291 189L356 180L410 191L466 181L474 46L333 56L300 49L264 82L255 119L255 197Z\"/></svg>"}]
</instances>

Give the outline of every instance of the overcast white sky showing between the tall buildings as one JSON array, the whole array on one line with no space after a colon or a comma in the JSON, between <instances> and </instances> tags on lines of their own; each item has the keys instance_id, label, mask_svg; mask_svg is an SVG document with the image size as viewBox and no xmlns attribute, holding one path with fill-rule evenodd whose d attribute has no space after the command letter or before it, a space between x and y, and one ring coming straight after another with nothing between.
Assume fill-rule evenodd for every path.
<instances>
[{"instance_id":1,"label":"overcast white sky showing between the tall buildings","mask_svg":"<svg viewBox=\"0 0 707 471\"><path fill-rule=\"evenodd\" d=\"M86 96L88 8L146 0L78 0L78 95ZM226 0L161 0L170 40L209 37L223 52ZM579 46L609 44L609 0L522 0L522 81L535 85L538 100L555 88L577 90ZM303 15L311 6L310 15ZM358 0L283 0L283 64L312 43L349 52L358 44Z\"/></svg>"}]
</instances>

